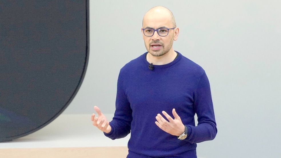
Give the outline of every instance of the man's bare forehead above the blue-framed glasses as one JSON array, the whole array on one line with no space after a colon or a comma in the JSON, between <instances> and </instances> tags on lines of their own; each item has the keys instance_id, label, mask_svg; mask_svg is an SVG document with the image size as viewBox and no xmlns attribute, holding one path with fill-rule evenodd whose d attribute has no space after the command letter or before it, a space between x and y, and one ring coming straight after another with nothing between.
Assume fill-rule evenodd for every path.
<instances>
[{"instance_id":1,"label":"man's bare forehead above the blue-framed glasses","mask_svg":"<svg viewBox=\"0 0 281 158\"><path fill-rule=\"evenodd\" d=\"M172 17L167 13L149 13L144 16L144 25L143 28L146 27L172 27Z\"/></svg>"}]
</instances>

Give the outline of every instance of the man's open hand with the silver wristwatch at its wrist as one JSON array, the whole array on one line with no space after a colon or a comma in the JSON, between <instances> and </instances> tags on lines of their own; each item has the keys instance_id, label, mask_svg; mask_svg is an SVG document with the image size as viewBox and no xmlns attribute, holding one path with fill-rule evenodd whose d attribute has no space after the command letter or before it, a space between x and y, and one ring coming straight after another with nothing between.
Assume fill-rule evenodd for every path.
<instances>
[{"instance_id":1,"label":"man's open hand with the silver wristwatch at its wrist","mask_svg":"<svg viewBox=\"0 0 281 158\"><path fill-rule=\"evenodd\" d=\"M173 119L165 111L162 111L162 113L164 116L166 116L169 122L164 117L162 117L162 115L157 114L157 121L155 121L155 123L160 129L167 133L170 133L171 135L176 136L180 136L182 133L184 133L184 124L182 123L182 120L180 119L180 116L176 113L175 109L172 110L175 119Z\"/></svg>"}]
</instances>

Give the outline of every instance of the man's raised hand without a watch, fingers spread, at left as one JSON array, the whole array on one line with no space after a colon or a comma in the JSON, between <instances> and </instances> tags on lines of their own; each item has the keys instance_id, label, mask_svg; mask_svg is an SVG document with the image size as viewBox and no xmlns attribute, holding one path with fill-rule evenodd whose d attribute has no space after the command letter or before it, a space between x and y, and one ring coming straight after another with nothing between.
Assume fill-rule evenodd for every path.
<instances>
[{"instance_id":1,"label":"man's raised hand without a watch, fingers spread, at left","mask_svg":"<svg viewBox=\"0 0 281 158\"><path fill-rule=\"evenodd\" d=\"M101 113L101 110L97 106L94 106L94 109L99 117L95 117L94 113L92 114L91 120L93 121L93 125L101 131L109 133L111 131L111 126L109 125L109 122L107 121L105 115Z\"/></svg>"}]
</instances>

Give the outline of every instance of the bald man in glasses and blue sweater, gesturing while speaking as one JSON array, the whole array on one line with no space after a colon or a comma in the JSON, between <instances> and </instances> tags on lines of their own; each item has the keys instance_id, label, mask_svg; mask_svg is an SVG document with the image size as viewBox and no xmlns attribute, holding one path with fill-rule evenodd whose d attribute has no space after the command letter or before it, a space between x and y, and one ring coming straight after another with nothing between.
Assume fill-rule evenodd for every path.
<instances>
[{"instance_id":1,"label":"bald man in glasses and blue sweater, gesturing while speaking","mask_svg":"<svg viewBox=\"0 0 281 158\"><path fill-rule=\"evenodd\" d=\"M141 31L148 52L121 68L113 120L95 106L93 125L113 140L131 132L127 158L197 157L196 143L217 133L207 75L174 51L179 28L169 9L150 9Z\"/></svg>"}]
</instances>

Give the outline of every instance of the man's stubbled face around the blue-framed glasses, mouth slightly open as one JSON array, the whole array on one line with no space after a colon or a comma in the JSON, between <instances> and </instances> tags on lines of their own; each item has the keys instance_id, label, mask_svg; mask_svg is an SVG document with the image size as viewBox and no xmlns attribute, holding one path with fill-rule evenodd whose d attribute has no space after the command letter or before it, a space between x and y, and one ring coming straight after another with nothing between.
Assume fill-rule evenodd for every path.
<instances>
[{"instance_id":1,"label":"man's stubbled face around the blue-framed glasses, mouth slightly open","mask_svg":"<svg viewBox=\"0 0 281 158\"><path fill-rule=\"evenodd\" d=\"M146 15L144 18L143 28L173 28L171 17L160 14ZM153 56L162 56L170 51L174 41L174 29L170 29L167 36L159 36L157 31L154 32L153 36L145 36L142 30L144 39L144 45L148 52ZM156 44L158 46L156 46ZM155 45L155 46L153 46Z\"/></svg>"}]
</instances>

